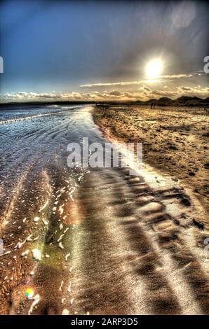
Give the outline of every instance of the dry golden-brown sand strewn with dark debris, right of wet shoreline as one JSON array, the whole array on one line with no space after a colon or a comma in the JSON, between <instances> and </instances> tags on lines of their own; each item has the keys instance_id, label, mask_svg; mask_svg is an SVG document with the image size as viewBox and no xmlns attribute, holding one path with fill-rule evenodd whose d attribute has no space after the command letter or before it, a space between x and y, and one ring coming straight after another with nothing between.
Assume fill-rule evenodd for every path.
<instances>
[{"instance_id":1,"label":"dry golden-brown sand strewn with dark debris, right of wet shoreline","mask_svg":"<svg viewBox=\"0 0 209 329\"><path fill-rule=\"evenodd\" d=\"M203 108L102 106L94 117L104 134L142 143L143 161L183 181L209 210L209 115Z\"/></svg>"}]
</instances>

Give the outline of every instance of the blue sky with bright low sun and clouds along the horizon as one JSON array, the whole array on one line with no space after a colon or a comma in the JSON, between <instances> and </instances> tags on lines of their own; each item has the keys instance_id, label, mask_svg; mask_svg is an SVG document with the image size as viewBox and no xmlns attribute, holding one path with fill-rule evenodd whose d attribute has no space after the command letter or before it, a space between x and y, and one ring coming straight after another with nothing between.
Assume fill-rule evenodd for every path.
<instances>
[{"instance_id":1,"label":"blue sky with bright low sun and clouds along the horizon","mask_svg":"<svg viewBox=\"0 0 209 329\"><path fill-rule=\"evenodd\" d=\"M0 2L0 102L208 97L205 1Z\"/></svg>"}]
</instances>

